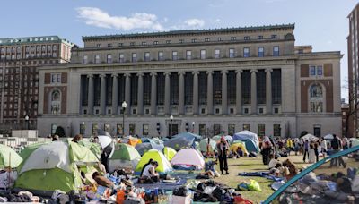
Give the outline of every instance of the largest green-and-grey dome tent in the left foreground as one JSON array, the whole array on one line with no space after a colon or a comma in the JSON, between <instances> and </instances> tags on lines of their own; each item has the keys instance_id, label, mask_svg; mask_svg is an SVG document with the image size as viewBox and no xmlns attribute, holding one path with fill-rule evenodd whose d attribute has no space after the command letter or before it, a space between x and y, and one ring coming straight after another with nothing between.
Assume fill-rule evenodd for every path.
<instances>
[{"instance_id":1,"label":"largest green-and-grey dome tent in the left foreground","mask_svg":"<svg viewBox=\"0 0 359 204\"><path fill-rule=\"evenodd\" d=\"M77 191L81 175L98 165L99 160L90 149L72 141L54 141L35 149L18 167L15 188L28 191Z\"/></svg>"}]
</instances>

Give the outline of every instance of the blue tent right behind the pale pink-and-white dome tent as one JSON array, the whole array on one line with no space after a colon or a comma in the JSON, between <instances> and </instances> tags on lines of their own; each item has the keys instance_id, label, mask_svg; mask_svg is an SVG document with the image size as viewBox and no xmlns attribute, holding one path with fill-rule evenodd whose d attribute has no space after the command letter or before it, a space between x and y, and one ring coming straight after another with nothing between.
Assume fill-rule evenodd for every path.
<instances>
[{"instance_id":1,"label":"blue tent right behind the pale pink-and-white dome tent","mask_svg":"<svg viewBox=\"0 0 359 204\"><path fill-rule=\"evenodd\" d=\"M189 132L182 132L178 135L175 135L171 140L165 141L164 146L176 150L195 148L195 141L198 139L198 137L199 136Z\"/></svg>"}]
</instances>

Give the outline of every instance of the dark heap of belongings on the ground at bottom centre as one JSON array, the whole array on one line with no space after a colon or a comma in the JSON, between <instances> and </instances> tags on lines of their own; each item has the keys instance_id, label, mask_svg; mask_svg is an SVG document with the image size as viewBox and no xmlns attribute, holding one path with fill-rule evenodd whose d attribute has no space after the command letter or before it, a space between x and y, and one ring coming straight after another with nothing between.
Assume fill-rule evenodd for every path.
<instances>
[{"instance_id":1,"label":"dark heap of belongings on the ground at bottom centre","mask_svg":"<svg viewBox=\"0 0 359 204\"><path fill-rule=\"evenodd\" d=\"M193 197L195 202L233 203L234 197L238 196L234 189L230 189L222 183L215 183L213 180L198 183L197 187L191 190L195 192Z\"/></svg>"}]
</instances>

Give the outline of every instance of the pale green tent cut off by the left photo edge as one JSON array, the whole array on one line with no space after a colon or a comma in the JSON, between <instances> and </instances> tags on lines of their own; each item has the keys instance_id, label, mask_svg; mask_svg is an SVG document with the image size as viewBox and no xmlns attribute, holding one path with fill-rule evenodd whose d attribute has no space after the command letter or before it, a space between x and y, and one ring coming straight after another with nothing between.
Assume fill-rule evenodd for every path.
<instances>
[{"instance_id":1,"label":"pale green tent cut off by the left photo edge","mask_svg":"<svg viewBox=\"0 0 359 204\"><path fill-rule=\"evenodd\" d=\"M0 169L17 167L21 163L22 157L20 157L16 151L6 145L0 144Z\"/></svg>"}]
</instances>

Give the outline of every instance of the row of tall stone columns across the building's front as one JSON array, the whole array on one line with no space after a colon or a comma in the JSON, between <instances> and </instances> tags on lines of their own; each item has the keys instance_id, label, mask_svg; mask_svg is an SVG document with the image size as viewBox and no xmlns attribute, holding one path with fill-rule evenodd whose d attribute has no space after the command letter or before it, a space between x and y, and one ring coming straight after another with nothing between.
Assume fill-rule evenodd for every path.
<instances>
[{"instance_id":1,"label":"row of tall stone columns across the building's front","mask_svg":"<svg viewBox=\"0 0 359 204\"><path fill-rule=\"evenodd\" d=\"M241 72L242 70L236 70L236 111L237 114L241 114L242 104L241 104ZM250 109L251 114L257 113L257 70L250 70ZM272 70L266 70L266 108L267 114L272 112L272 79L271 79ZM208 71L207 73L207 114L212 115L214 110L213 104L213 71ZM228 114L228 102L227 102L227 74L228 71L222 71L222 114ZM185 72L178 72L180 75L180 84L179 84L179 114L185 114ZM192 110L193 114L198 114L198 71L192 72L193 74L193 105ZM138 90L137 90L137 114L144 114L144 79L143 73L137 73L138 76ZM157 112L157 73L151 73L151 113L153 115ZM164 113L167 115L171 114L171 73L165 72L165 87L164 87ZM106 75L101 74L101 115L106 115ZM125 101L129 104L130 101L130 73L125 73ZM88 75L89 78L89 93L88 93L88 114L93 115L93 75ZM112 74L112 113L117 115L118 113L118 74ZM127 108L126 114L130 113L130 108Z\"/></svg>"}]
</instances>

